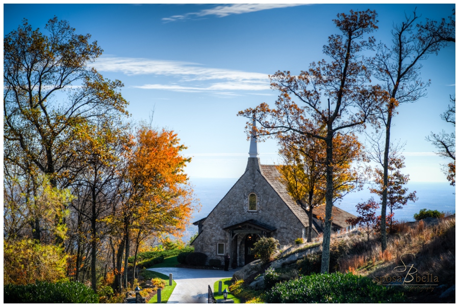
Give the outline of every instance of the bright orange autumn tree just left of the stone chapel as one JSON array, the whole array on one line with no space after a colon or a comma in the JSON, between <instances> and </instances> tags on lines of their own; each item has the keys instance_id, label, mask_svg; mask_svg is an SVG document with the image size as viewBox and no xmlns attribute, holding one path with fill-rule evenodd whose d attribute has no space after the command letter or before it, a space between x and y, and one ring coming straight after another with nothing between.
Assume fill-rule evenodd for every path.
<instances>
[{"instance_id":1,"label":"bright orange autumn tree just left of the stone chapel","mask_svg":"<svg viewBox=\"0 0 459 307\"><path fill-rule=\"evenodd\" d=\"M125 246L124 287L130 238L135 237L135 260L143 239L155 234L180 236L195 208L193 190L184 172L191 158L173 131L140 128L125 157L120 191Z\"/></svg>"}]
</instances>

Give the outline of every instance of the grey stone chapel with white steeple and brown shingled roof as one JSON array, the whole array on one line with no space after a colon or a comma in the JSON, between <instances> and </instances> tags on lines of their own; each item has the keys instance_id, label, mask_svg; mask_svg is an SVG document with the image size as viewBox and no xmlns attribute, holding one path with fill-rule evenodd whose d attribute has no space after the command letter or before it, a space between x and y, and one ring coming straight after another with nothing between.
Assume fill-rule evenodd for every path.
<instances>
[{"instance_id":1,"label":"grey stone chapel with white steeple and brown shingled roof","mask_svg":"<svg viewBox=\"0 0 459 307\"><path fill-rule=\"evenodd\" d=\"M277 239L281 246L307 238L308 214L290 197L280 176L276 165L260 164L252 136L244 174L207 217L193 223L198 226L195 252L222 263L228 253L233 266L244 266L254 260L249 250L262 236ZM322 232L317 217L324 212L325 206L313 210L313 238ZM355 216L334 207L332 231L347 228L350 217Z\"/></svg>"}]
</instances>

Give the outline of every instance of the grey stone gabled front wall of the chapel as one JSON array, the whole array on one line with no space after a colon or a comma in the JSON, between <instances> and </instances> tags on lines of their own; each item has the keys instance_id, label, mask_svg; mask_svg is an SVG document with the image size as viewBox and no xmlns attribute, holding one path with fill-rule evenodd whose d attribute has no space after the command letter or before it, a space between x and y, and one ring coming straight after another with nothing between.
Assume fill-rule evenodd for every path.
<instances>
[{"instance_id":1,"label":"grey stone gabled front wall of the chapel","mask_svg":"<svg viewBox=\"0 0 459 307\"><path fill-rule=\"evenodd\" d=\"M250 193L257 195L256 212L248 211ZM300 220L261 175L258 158L249 158L244 175L203 222L202 232L193 242L195 251L207 254L208 259L220 259L223 263L224 256L217 255L217 243L225 244L225 254L230 252L229 233L223 228L249 219L276 228L271 236L281 245L293 243L303 236L304 226ZM238 234L238 265L244 265L244 238L244 234Z\"/></svg>"}]
</instances>

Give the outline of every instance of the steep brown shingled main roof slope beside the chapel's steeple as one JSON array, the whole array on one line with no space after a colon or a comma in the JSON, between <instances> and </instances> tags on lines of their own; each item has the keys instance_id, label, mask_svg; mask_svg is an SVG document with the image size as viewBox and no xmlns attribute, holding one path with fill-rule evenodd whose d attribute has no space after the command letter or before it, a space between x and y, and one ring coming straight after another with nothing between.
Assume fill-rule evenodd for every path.
<instances>
[{"instance_id":1,"label":"steep brown shingled main roof slope beside the chapel's steeple","mask_svg":"<svg viewBox=\"0 0 459 307\"><path fill-rule=\"evenodd\" d=\"M284 201L290 210L292 210L293 214L298 217L301 224L303 224L304 227L309 227L308 214L292 199L287 192L285 184L279 180L279 178L281 178L281 174L277 171L276 165L260 165L260 168L263 177L268 181L271 187L276 191L278 196ZM315 229L314 225L313 228Z\"/></svg>"}]
</instances>

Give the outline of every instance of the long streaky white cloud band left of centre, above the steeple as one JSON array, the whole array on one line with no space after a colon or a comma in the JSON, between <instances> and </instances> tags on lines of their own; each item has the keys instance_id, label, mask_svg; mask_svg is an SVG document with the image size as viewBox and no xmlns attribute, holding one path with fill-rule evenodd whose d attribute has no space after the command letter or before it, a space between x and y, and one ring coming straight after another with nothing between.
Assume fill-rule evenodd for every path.
<instances>
[{"instance_id":1,"label":"long streaky white cloud band left of centre, above the steeple","mask_svg":"<svg viewBox=\"0 0 459 307\"><path fill-rule=\"evenodd\" d=\"M175 78L169 84L147 83L138 89L174 92L209 92L234 96L232 91L269 90L267 74L205 67L198 63L160 61L135 58L103 57L94 66L99 71L121 72L126 75L155 75Z\"/></svg>"}]
</instances>

